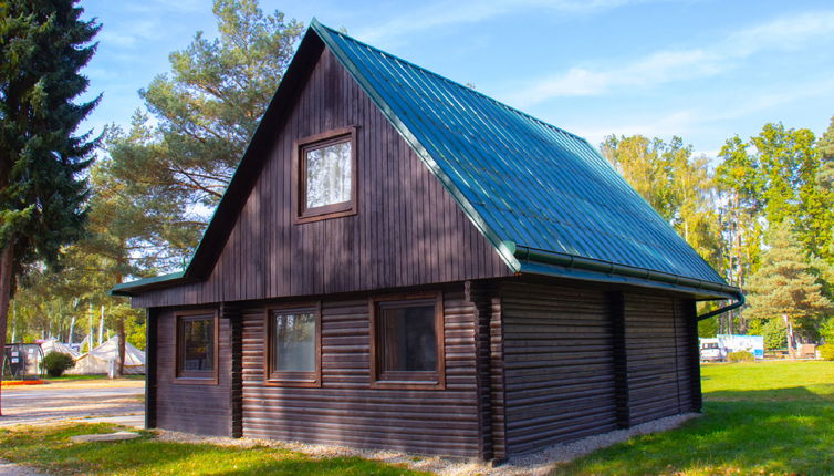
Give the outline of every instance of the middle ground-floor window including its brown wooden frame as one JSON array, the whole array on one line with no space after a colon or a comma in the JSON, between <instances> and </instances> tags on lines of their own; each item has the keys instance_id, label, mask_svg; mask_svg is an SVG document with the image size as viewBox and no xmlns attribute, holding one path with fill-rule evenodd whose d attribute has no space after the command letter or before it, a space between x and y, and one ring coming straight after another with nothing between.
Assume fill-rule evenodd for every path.
<instances>
[{"instance_id":1,"label":"middle ground-floor window including its brown wooden frame","mask_svg":"<svg viewBox=\"0 0 834 476\"><path fill-rule=\"evenodd\" d=\"M319 386L321 320L317 306L267 310L267 382Z\"/></svg>"}]
</instances>

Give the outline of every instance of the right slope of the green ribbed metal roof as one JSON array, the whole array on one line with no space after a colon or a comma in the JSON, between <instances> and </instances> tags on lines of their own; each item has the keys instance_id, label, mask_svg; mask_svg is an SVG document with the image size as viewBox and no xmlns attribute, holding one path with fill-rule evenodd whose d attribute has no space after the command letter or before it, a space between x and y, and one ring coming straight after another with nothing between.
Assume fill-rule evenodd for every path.
<instances>
[{"instance_id":1,"label":"right slope of the green ribbed metal roof","mask_svg":"<svg viewBox=\"0 0 834 476\"><path fill-rule=\"evenodd\" d=\"M727 287L582 137L315 20L311 28L515 270L534 271L529 257L549 253Z\"/></svg>"}]
</instances>

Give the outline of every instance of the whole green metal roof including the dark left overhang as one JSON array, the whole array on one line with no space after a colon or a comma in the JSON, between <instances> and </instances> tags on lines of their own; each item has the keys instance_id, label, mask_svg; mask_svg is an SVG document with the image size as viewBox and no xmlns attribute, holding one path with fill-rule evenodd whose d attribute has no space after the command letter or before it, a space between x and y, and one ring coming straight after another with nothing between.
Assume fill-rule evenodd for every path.
<instances>
[{"instance_id":1,"label":"whole green metal roof including the dark left overhang","mask_svg":"<svg viewBox=\"0 0 834 476\"><path fill-rule=\"evenodd\" d=\"M585 139L385 53L315 19L181 272L115 287L205 279L321 41L420 156L512 271L732 296L724 280ZM712 292L701 292L702 290Z\"/></svg>"}]
</instances>

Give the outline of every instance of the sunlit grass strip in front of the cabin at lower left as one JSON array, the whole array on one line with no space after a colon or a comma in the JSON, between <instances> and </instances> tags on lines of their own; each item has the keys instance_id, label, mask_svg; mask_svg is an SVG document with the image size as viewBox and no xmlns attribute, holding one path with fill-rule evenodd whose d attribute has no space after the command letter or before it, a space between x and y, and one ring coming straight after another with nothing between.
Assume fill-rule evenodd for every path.
<instances>
[{"instance_id":1,"label":"sunlit grass strip in front of the cabin at lower left","mask_svg":"<svg viewBox=\"0 0 834 476\"><path fill-rule=\"evenodd\" d=\"M280 448L159 442L71 443L70 436L124 430L112 424L0 430L0 458L54 475L420 475L357 457L312 458Z\"/></svg>"}]
</instances>

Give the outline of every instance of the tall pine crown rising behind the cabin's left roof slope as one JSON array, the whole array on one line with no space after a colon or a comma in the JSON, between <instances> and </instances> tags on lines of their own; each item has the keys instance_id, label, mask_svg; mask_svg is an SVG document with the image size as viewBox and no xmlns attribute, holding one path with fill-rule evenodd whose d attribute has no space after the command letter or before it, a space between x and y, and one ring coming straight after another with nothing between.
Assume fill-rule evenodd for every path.
<instances>
[{"instance_id":1,"label":"tall pine crown rising behind the cabin's left roof slope","mask_svg":"<svg viewBox=\"0 0 834 476\"><path fill-rule=\"evenodd\" d=\"M108 141L108 173L148 217L140 235L163 268L197 245L303 31L257 0L215 0L213 13L218 38L171 53L170 73L140 91L145 111Z\"/></svg>"}]
</instances>

